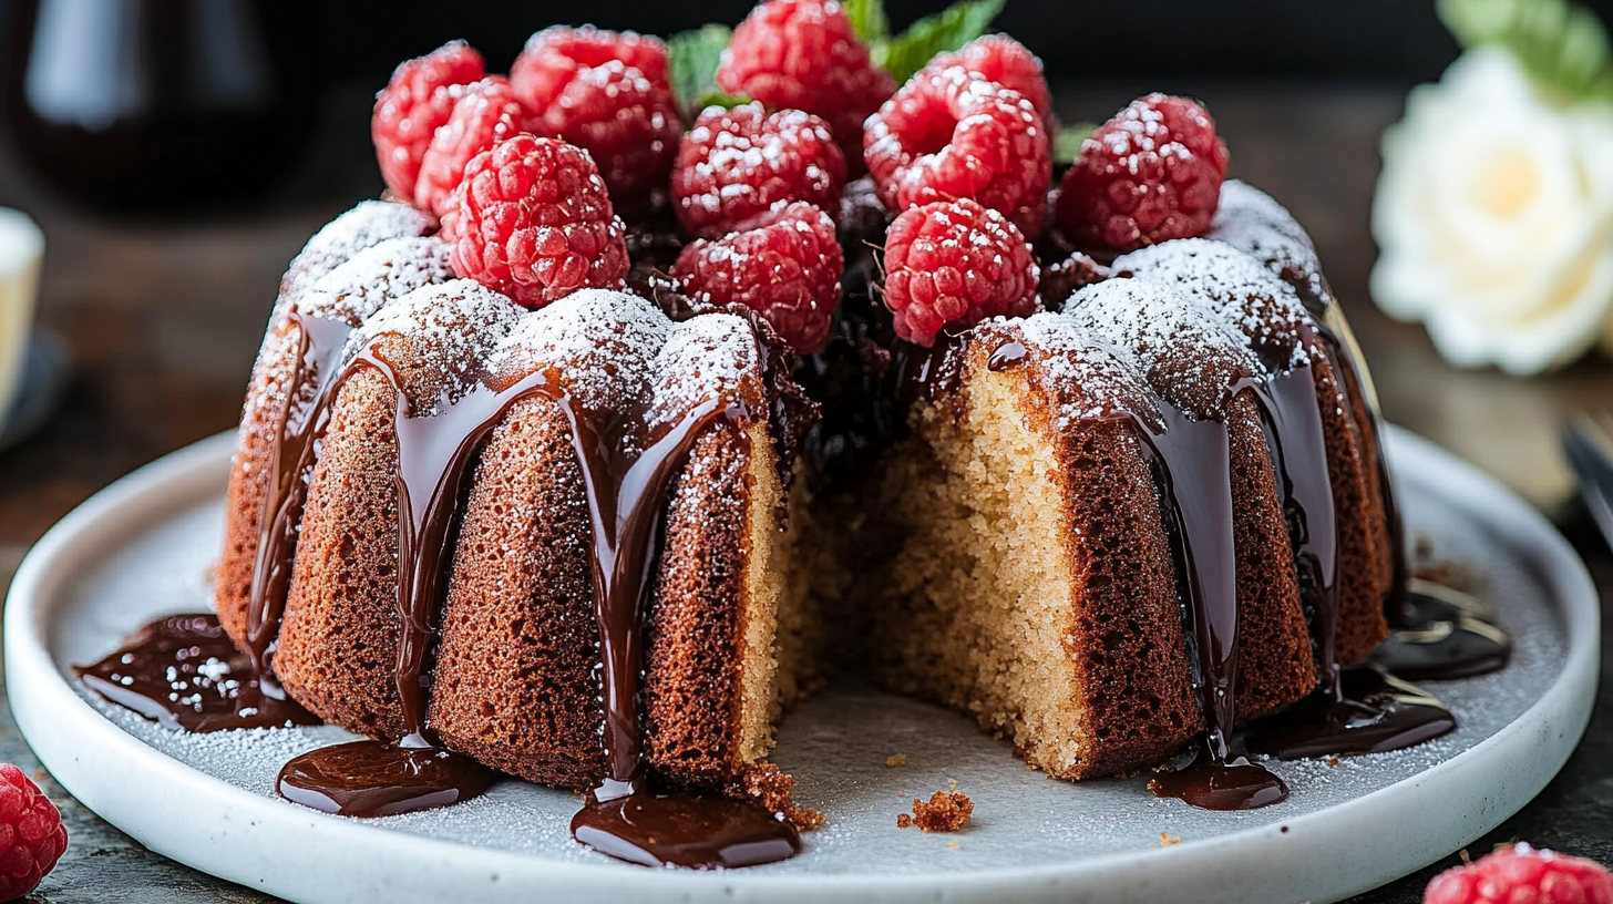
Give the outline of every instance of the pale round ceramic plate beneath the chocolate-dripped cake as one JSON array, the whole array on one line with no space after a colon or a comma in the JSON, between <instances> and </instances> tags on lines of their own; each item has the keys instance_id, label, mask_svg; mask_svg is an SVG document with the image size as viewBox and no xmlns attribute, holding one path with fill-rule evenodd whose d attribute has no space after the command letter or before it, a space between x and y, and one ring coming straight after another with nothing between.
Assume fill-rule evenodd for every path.
<instances>
[{"instance_id":1,"label":"pale round ceramic plate beneath the chocolate-dripped cake","mask_svg":"<svg viewBox=\"0 0 1613 904\"><path fill-rule=\"evenodd\" d=\"M1487 570L1479 596L1515 639L1511 662L1421 683L1457 714L1448 736L1336 767L1266 762L1292 794L1260 810L1158 799L1147 776L1048 781L973 722L863 684L832 686L784 723L776 760L829 825L779 864L619 864L571 839L576 796L513 780L365 822L289 804L274 796L281 765L350 734L179 734L71 676L152 618L206 609L232 436L131 475L34 547L6 605L6 681L27 741L85 806L161 854L300 902L1336 901L1516 812L1568 759L1595 696L1597 597L1568 544L1468 465L1403 431L1389 439L1408 536ZM907 765L886 767L894 754ZM974 801L965 831L897 828L948 780Z\"/></svg>"}]
</instances>

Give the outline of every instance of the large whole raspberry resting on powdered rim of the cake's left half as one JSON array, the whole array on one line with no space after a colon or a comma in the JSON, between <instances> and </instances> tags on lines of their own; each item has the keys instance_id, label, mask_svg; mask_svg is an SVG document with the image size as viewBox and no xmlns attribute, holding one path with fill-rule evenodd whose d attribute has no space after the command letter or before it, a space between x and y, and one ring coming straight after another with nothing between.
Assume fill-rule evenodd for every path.
<instances>
[{"instance_id":1,"label":"large whole raspberry resting on powdered rim of the cake's left half","mask_svg":"<svg viewBox=\"0 0 1613 904\"><path fill-rule=\"evenodd\" d=\"M623 286L626 229L589 152L518 134L465 165L453 200L458 276L529 308L584 287Z\"/></svg>"}]
</instances>

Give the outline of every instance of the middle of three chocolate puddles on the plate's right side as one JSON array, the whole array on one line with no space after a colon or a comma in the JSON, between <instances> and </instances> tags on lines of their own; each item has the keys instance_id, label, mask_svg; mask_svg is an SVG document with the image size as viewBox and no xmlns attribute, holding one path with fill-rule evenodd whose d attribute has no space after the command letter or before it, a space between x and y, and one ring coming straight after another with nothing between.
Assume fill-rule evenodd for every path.
<instances>
[{"instance_id":1,"label":"middle of three chocolate puddles on the plate's right side","mask_svg":"<svg viewBox=\"0 0 1613 904\"><path fill-rule=\"evenodd\" d=\"M1376 665L1345 668L1318 693L1250 731L1250 752L1284 760L1400 751L1457 730L1436 697Z\"/></svg>"}]
</instances>

